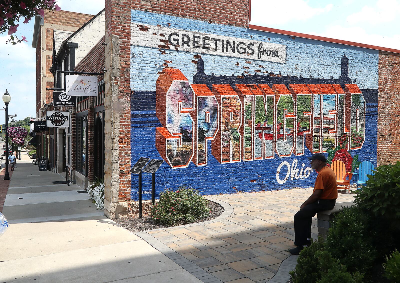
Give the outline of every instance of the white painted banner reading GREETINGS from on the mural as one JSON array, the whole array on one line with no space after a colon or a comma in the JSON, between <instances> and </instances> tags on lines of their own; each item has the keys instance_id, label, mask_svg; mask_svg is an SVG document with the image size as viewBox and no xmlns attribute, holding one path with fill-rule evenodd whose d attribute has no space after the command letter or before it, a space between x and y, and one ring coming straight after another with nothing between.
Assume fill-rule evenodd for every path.
<instances>
[{"instance_id":1,"label":"white painted banner reading GREETINGS from on the mural","mask_svg":"<svg viewBox=\"0 0 400 283\"><path fill-rule=\"evenodd\" d=\"M286 46L282 44L205 34L163 26L132 23L131 44L248 60L286 63Z\"/></svg>"}]
</instances>

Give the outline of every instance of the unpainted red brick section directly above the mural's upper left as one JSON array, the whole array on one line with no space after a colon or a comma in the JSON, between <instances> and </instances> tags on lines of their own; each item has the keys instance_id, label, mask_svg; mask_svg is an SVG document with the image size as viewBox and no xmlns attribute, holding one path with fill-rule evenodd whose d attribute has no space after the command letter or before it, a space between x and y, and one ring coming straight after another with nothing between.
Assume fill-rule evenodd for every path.
<instances>
[{"instance_id":1,"label":"unpainted red brick section directly above the mural's upper left","mask_svg":"<svg viewBox=\"0 0 400 283\"><path fill-rule=\"evenodd\" d=\"M132 0L132 9L231 26L248 26L249 0Z\"/></svg>"}]
</instances>

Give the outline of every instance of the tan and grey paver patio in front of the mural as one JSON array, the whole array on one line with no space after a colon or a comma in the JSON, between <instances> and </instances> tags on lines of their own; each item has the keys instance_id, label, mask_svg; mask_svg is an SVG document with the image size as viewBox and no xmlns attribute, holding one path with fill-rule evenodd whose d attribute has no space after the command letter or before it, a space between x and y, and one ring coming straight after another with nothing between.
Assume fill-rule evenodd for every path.
<instances>
[{"instance_id":1,"label":"tan and grey paver patio in front of the mural","mask_svg":"<svg viewBox=\"0 0 400 283\"><path fill-rule=\"evenodd\" d=\"M209 196L211 200L228 203L233 213L213 223L137 235L160 250L163 247L154 243L163 243L186 259L170 253L178 264L193 263L190 271L200 267L214 277L203 282L264 283L276 275L282 261L289 257L286 250L294 247L293 216L311 193L312 189L293 189ZM354 195L339 194L337 202L353 199ZM317 233L314 218L314 239ZM275 277L274 281L280 282Z\"/></svg>"}]
</instances>

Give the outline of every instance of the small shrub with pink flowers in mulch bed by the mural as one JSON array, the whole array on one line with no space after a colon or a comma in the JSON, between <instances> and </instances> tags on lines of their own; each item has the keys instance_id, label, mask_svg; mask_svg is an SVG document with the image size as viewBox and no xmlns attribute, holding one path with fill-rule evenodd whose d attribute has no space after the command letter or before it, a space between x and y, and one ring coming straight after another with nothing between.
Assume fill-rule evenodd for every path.
<instances>
[{"instance_id":1,"label":"small shrub with pink flowers in mulch bed by the mural","mask_svg":"<svg viewBox=\"0 0 400 283\"><path fill-rule=\"evenodd\" d=\"M165 190L160 201L151 208L152 219L165 226L193 223L210 215L208 201L190 187L181 186L177 191Z\"/></svg>"}]
</instances>

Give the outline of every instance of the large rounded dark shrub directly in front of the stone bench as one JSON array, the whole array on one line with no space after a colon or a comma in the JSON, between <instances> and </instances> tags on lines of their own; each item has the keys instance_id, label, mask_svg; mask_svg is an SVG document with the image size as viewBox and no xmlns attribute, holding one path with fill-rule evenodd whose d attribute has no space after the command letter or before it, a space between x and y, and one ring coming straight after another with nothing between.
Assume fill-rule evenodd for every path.
<instances>
[{"instance_id":1,"label":"large rounded dark shrub directly in front of the stone bench","mask_svg":"<svg viewBox=\"0 0 400 283\"><path fill-rule=\"evenodd\" d=\"M373 265L375 249L367 222L362 209L345 207L335 215L326 238L326 250L351 273L365 273Z\"/></svg>"}]
</instances>

